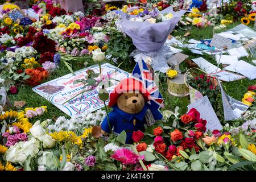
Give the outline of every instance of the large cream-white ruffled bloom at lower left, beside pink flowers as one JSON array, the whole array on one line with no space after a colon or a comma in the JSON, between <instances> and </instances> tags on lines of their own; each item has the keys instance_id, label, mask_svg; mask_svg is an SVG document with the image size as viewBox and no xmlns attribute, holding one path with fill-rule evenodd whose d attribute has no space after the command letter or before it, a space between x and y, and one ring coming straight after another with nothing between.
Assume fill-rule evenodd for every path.
<instances>
[{"instance_id":1,"label":"large cream-white ruffled bloom at lower left, beside pink flowers","mask_svg":"<svg viewBox=\"0 0 256 182\"><path fill-rule=\"evenodd\" d=\"M14 146L11 146L5 153L6 160L12 163L23 164L28 155L31 158L39 151L39 141L35 138L31 138L26 142L18 142Z\"/></svg>"}]
</instances>

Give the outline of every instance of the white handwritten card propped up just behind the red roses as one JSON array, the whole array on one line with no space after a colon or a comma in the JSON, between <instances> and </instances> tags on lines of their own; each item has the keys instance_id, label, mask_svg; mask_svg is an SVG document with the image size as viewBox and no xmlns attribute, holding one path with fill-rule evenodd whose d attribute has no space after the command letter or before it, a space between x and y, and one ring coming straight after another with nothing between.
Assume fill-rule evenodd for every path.
<instances>
[{"instance_id":1,"label":"white handwritten card propped up just behind the red roses","mask_svg":"<svg viewBox=\"0 0 256 182\"><path fill-rule=\"evenodd\" d=\"M204 96L199 100L196 100L192 104L188 105L188 110L195 108L200 113L202 119L207 120L207 130L222 130L220 120L213 110L212 105L210 104L209 98Z\"/></svg>"}]
</instances>

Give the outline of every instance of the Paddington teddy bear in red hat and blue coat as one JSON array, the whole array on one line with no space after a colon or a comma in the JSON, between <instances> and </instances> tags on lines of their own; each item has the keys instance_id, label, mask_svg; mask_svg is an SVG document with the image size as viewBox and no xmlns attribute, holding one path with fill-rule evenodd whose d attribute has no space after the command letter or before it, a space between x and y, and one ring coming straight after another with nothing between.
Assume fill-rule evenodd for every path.
<instances>
[{"instance_id":1,"label":"Paddington teddy bear in red hat and blue coat","mask_svg":"<svg viewBox=\"0 0 256 182\"><path fill-rule=\"evenodd\" d=\"M109 122L106 117L101 124L102 134L110 131L120 134L126 131L126 143L132 143L133 131L143 131L146 123L145 114L150 110L155 120L162 119L158 109L151 109L148 105L150 93L141 81L134 78L126 78L119 82L109 97L109 107L113 111L109 113Z\"/></svg>"}]
</instances>

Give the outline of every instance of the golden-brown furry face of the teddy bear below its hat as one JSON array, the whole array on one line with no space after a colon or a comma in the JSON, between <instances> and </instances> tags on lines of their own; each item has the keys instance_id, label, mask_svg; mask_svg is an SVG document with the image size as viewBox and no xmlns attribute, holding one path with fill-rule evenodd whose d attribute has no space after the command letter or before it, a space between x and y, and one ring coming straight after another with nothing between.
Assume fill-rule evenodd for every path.
<instances>
[{"instance_id":1,"label":"golden-brown furry face of the teddy bear below its hat","mask_svg":"<svg viewBox=\"0 0 256 182\"><path fill-rule=\"evenodd\" d=\"M129 114L137 114L142 111L145 105L144 97L141 93L122 93L118 97L117 106L122 111Z\"/></svg>"}]
</instances>

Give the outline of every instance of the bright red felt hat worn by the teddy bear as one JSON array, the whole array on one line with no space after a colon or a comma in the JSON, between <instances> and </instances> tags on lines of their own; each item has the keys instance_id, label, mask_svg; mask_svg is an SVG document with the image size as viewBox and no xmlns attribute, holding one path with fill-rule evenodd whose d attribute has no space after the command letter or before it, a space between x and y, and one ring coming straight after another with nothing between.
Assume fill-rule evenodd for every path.
<instances>
[{"instance_id":1,"label":"bright red felt hat worn by the teddy bear","mask_svg":"<svg viewBox=\"0 0 256 182\"><path fill-rule=\"evenodd\" d=\"M122 93L133 93L134 91L141 93L146 102L150 100L150 93L148 93L147 89L144 88L141 81L135 80L134 78L125 78L120 81L119 84L115 86L112 93L110 93L109 107L117 104L118 97Z\"/></svg>"}]
</instances>

